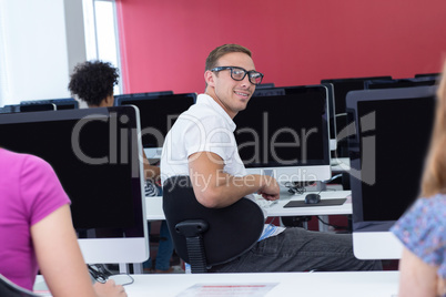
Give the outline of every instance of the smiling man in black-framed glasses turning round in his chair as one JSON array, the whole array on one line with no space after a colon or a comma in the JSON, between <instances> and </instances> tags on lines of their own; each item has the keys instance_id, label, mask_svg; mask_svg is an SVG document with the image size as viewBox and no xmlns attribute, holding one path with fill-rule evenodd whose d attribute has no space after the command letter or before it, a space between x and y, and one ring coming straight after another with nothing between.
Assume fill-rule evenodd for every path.
<instances>
[{"instance_id":1,"label":"smiling man in black-framed glasses turning round in his chair","mask_svg":"<svg viewBox=\"0 0 446 297\"><path fill-rule=\"evenodd\" d=\"M161 178L189 175L196 199L206 207L225 207L241 197L261 194L275 201L280 187L275 178L246 174L234 137L234 116L262 82L251 51L224 44L206 59L206 88L196 104L182 113L164 142ZM242 115L241 115L242 116ZM266 225L261 239L241 257L212 267L219 273L372 270L379 262L358 260L353 255L351 235L308 232Z\"/></svg>"}]
</instances>

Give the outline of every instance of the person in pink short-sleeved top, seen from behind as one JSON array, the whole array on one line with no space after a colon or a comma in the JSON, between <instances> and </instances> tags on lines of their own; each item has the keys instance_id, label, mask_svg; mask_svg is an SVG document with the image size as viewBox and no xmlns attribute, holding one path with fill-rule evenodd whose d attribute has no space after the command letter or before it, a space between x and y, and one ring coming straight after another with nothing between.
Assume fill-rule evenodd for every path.
<instances>
[{"instance_id":1,"label":"person in pink short-sleeved top, seen from behind","mask_svg":"<svg viewBox=\"0 0 446 297\"><path fill-rule=\"evenodd\" d=\"M57 296L124 297L113 280L92 285L51 165L0 147L0 274L32 290L40 269Z\"/></svg>"}]
</instances>

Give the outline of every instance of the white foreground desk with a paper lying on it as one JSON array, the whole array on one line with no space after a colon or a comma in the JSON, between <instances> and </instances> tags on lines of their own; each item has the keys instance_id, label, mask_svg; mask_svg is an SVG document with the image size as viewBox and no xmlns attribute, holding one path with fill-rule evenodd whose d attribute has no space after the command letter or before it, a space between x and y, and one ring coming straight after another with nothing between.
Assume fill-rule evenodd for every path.
<instances>
[{"instance_id":1,"label":"white foreground desk with a paper lying on it","mask_svg":"<svg viewBox=\"0 0 446 297\"><path fill-rule=\"evenodd\" d=\"M268 290L265 296L393 297L397 296L399 273L342 272L133 275L133 278L134 283L125 286L129 297L187 296L181 294L195 284L234 286L271 283L276 285ZM42 277L38 276L36 287L41 283Z\"/></svg>"}]
</instances>

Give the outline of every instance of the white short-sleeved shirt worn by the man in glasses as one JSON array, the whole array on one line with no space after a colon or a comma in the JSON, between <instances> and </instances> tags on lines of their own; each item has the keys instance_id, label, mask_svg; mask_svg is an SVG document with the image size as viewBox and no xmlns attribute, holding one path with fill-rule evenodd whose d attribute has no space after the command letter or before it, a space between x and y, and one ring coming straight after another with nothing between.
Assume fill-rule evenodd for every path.
<instances>
[{"instance_id":1,"label":"white short-sleeved shirt worn by the man in glasses","mask_svg":"<svg viewBox=\"0 0 446 297\"><path fill-rule=\"evenodd\" d=\"M210 95L200 94L196 103L183 112L168 133L161 154L161 182L175 175L190 175L187 157L197 152L212 152L224 162L223 171L233 176L246 175L234 137L235 123ZM253 195L247 196L254 199ZM283 232L265 225L260 238Z\"/></svg>"}]
</instances>

